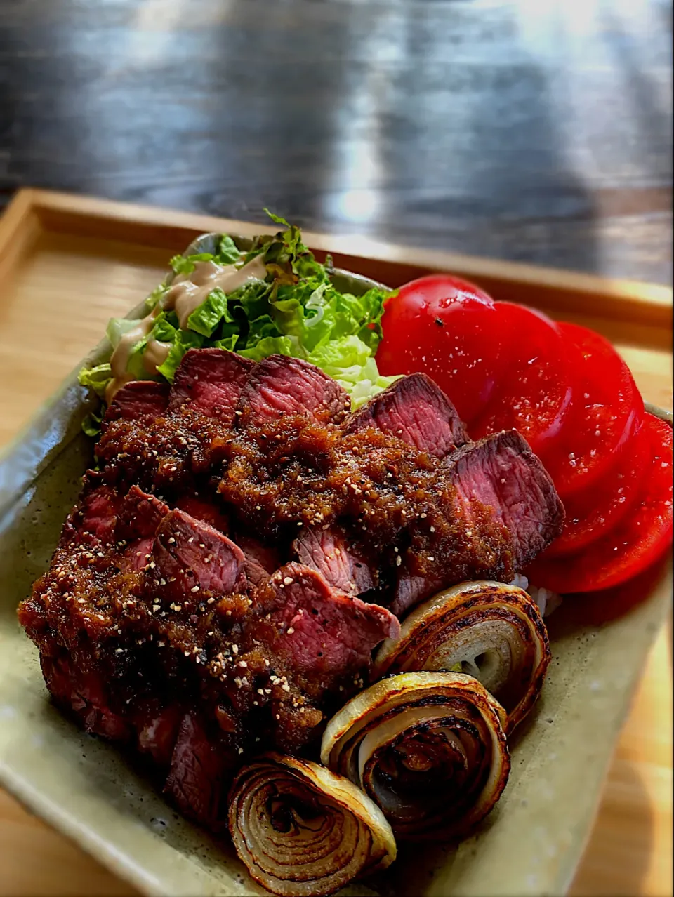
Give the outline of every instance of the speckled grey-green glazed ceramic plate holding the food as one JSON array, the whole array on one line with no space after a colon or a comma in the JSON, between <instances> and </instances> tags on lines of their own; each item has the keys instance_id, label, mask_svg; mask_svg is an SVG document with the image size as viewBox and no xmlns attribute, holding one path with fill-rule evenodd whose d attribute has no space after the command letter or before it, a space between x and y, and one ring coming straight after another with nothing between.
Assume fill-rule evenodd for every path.
<instances>
[{"instance_id":1,"label":"speckled grey-green glazed ceramic plate holding the food","mask_svg":"<svg viewBox=\"0 0 674 897\"><path fill-rule=\"evenodd\" d=\"M203 251L208 237L200 240ZM339 276L352 292L371 284ZM103 343L89 361L108 355ZM267 893L229 844L173 812L132 757L85 735L50 704L37 651L16 621L91 459L80 431L87 401L73 374L0 458L0 782L144 893ZM562 605L550 620L554 659L543 694L512 743L512 773L495 812L458 846L403 845L387 875L349 893L565 893L670 594L668 565L631 583L608 622L591 622L599 619L592 598Z\"/></svg>"}]
</instances>

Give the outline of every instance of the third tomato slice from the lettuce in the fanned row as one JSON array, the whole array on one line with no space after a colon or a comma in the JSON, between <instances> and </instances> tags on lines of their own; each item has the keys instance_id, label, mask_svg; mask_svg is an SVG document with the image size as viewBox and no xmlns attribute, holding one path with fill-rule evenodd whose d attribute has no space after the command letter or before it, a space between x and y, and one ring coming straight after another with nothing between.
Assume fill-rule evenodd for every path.
<instances>
[{"instance_id":1,"label":"third tomato slice from the lettuce in the fanned row","mask_svg":"<svg viewBox=\"0 0 674 897\"><path fill-rule=\"evenodd\" d=\"M625 361L603 336L576 324L559 324L578 396L560 439L543 462L564 500L597 483L643 421L643 399Z\"/></svg>"}]
</instances>

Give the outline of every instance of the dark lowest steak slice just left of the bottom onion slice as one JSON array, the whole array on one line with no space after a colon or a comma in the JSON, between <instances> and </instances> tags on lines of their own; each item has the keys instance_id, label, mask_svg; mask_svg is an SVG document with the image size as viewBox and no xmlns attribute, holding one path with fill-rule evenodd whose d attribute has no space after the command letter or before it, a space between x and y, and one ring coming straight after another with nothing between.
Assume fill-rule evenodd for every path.
<instances>
[{"instance_id":1,"label":"dark lowest steak slice just left of the bottom onion slice","mask_svg":"<svg viewBox=\"0 0 674 897\"><path fill-rule=\"evenodd\" d=\"M207 736L197 713L186 713L171 756L164 790L190 819L216 828L227 773L227 757Z\"/></svg>"}]
</instances>

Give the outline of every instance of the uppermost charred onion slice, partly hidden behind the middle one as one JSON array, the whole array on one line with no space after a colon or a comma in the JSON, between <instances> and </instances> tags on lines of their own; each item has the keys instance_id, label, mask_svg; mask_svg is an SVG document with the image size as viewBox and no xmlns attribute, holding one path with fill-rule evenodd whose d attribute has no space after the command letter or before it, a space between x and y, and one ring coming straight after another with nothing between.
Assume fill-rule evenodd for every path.
<instances>
[{"instance_id":1,"label":"uppermost charred onion slice, partly hidden behind the middle one","mask_svg":"<svg viewBox=\"0 0 674 897\"><path fill-rule=\"evenodd\" d=\"M538 698L549 662L545 623L525 591L462 582L407 616L400 638L381 646L373 675L460 668L503 705L510 733Z\"/></svg>"}]
</instances>

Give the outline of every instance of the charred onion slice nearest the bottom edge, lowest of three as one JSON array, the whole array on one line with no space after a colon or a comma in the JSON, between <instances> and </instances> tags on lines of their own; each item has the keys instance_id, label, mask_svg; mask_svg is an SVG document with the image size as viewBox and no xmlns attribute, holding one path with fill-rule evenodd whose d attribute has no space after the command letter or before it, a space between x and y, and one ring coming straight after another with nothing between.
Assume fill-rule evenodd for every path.
<instances>
[{"instance_id":1,"label":"charred onion slice nearest the bottom edge, lowest of three","mask_svg":"<svg viewBox=\"0 0 674 897\"><path fill-rule=\"evenodd\" d=\"M250 875L288 897L332 893L396 858L390 825L369 797L318 763L278 753L239 772L229 825Z\"/></svg>"}]
</instances>

